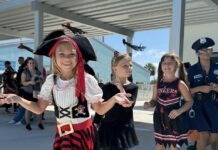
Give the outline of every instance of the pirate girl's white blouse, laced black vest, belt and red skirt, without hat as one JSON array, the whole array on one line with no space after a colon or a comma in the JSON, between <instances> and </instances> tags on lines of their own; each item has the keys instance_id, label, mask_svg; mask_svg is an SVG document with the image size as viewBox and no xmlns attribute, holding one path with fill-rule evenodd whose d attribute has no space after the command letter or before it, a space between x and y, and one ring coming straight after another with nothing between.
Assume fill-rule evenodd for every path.
<instances>
[{"instance_id":1,"label":"pirate girl's white blouse, laced black vest, belt and red skirt, without hat","mask_svg":"<svg viewBox=\"0 0 218 150\"><path fill-rule=\"evenodd\" d=\"M62 80L49 75L40 95L55 106L56 135L54 150L93 150L94 126L91 120L91 104L102 98L102 90L95 78L85 74L85 100L75 97L76 80Z\"/></svg>"}]
</instances>

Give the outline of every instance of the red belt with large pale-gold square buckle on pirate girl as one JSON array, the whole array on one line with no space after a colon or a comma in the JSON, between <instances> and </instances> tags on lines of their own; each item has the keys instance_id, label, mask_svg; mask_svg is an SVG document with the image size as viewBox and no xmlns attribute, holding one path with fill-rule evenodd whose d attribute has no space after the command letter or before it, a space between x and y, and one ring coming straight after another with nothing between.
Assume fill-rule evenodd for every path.
<instances>
[{"instance_id":1,"label":"red belt with large pale-gold square buckle on pirate girl","mask_svg":"<svg viewBox=\"0 0 218 150\"><path fill-rule=\"evenodd\" d=\"M56 131L60 137L74 133L74 131L83 130L92 125L92 119L88 119L82 123L72 124L71 121L59 123L57 122Z\"/></svg>"}]
</instances>

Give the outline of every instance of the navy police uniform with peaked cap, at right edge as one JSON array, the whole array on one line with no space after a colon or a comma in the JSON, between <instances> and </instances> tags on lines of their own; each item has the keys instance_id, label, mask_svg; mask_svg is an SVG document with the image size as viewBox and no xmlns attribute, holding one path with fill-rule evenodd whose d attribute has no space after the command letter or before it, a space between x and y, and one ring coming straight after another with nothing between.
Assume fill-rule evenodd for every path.
<instances>
[{"instance_id":1,"label":"navy police uniform with peaked cap, at right edge","mask_svg":"<svg viewBox=\"0 0 218 150\"><path fill-rule=\"evenodd\" d=\"M215 43L210 38L201 38L193 43L192 48L198 52L203 48L213 46ZM218 84L218 65L210 64L208 74L203 70L200 62L191 66L188 70L188 80L190 88L208 85L210 83ZM190 128L200 132L209 131L218 133L218 93L211 91L209 93L197 92L193 95L195 117L190 119Z\"/></svg>"}]
</instances>

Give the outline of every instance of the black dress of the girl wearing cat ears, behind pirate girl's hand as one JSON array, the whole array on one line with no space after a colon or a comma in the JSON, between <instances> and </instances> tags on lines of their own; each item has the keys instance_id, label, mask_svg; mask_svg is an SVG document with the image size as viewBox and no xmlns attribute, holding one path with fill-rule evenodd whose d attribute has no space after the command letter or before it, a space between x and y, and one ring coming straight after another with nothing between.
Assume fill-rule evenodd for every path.
<instances>
[{"instance_id":1,"label":"black dress of the girl wearing cat ears, behind pirate girl's hand","mask_svg":"<svg viewBox=\"0 0 218 150\"><path fill-rule=\"evenodd\" d=\"M131 101L136 101L138 86L134 83L123 86L126 93L131 93ZM107 83L102 87L103 99L107 101L116 93L119 93L119 89L112 83ZM133 106L130 108L124 108L119 104L115 104L114 107L109 110L101 119L101 123L98 129L100 147L107 150L122 150L129 149L135 145L138 145L138 139L135 133L134 121L133 121Z\"/></svg>"}]
</instances>

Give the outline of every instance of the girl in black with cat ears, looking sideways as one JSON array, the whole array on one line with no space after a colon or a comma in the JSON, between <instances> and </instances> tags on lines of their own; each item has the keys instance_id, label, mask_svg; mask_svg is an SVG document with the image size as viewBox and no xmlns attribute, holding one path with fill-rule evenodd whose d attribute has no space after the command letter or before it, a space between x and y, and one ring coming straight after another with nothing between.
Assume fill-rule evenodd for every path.
<instances>
[{"instance_id":1,"label":"girl in black with cat ears, looking sideways","mask_svg":"<svg viewBox=\"0 0 218 150\"><path fill-rule=\"evenodd\" d=\"M94 123L99 125L98 136L102 150L127 150L138 145L133 121L133 107L138 93L138 86L128 80L132 74L132 61L128 54L118 54L112 60L112 82L103 85L103 99L107 101L115 94L130 93L129 100L133 105L124 108L115 104L101 119L94 117ZM110 89L110 90L108 90Z\"/></svg>"}]
</instances>

